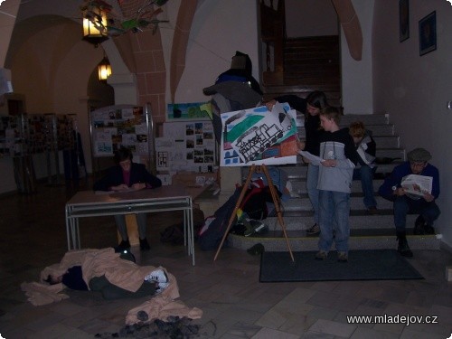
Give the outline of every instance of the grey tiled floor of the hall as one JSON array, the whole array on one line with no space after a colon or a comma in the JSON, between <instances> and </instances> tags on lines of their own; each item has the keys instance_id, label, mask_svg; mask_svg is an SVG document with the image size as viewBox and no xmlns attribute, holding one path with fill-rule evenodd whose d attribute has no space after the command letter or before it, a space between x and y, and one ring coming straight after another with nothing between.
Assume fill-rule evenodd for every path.
<instances>
[{"instance_id":1,"label":"grey tiled floor of the hall","mask_svg":"<svg viewBox=\"0 0 452 339\"><path fill-rule=\"evenodd\" d=\"M33 195L0 198L0 338L89 338L115 333L127 310L146 298L105 301L96 293L32 306L20 284L36 281L67 250L64 203L73 191L39 185ZM179 216L180 217L180 216ZM162 265L178 279L187 306L202 309L205 338L448 338L452 334L452 255L415 250L411 263L425 280L259 283L259 257L244 250L196 250L196 266L183 247L165 245L159 232L176 218L150 217L151 251L132 250L138 263ZM116 241L111 217L80 221L81 244L105 248ZM429 315L438 324L348 324L346 315Z\"/></svg>"}]
</instances>

